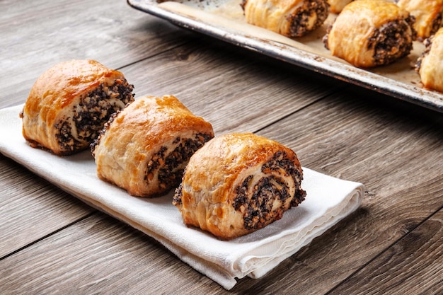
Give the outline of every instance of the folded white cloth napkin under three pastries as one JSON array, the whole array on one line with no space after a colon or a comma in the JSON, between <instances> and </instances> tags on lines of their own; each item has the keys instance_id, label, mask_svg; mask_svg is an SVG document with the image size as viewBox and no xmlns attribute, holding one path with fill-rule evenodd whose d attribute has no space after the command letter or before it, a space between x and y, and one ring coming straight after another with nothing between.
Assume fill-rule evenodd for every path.
<instances>
[{"instance_id":1,"label":"folded white cloth napkin under three pastries","mask_svg":"<svg viewBox=\"0 0 443 295\"><path fill-rule=\"evenodd\" d=\"M22 108L19 105L0 110L2 154L91 206L152 236L225 289L234 287L236 279L265 275L357 209L364 195L360 183L304 168L302 187L307 196L299 207L289 209L282 219L265 229L232 241L219 241L183 224L172 204L172 193L155 199L132 197L98 179L89 151L63 157L28 146L18 117Z\"/></svg>"}]
</instances>

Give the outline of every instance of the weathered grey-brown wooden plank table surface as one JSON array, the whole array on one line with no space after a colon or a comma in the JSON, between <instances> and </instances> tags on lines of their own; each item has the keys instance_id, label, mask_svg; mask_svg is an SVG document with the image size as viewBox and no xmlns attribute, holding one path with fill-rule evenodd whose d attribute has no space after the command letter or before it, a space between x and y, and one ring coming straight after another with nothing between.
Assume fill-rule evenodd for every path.
<instances>
[{"instance_id":1,"label":"weathered grey-brown wooden plank table surface","mask_svg":"<svg viewBox=\"0 0 443 295\"><path fill-rule=\"evenodd\" d=\"M216 134L255 132L364 183L356 212L226 291L149 236L0 154L0 294L443 294L443 115L178 28L122 0L0 1L0 108L96 59L177 96Z\"/></svg>"}]
</instances>

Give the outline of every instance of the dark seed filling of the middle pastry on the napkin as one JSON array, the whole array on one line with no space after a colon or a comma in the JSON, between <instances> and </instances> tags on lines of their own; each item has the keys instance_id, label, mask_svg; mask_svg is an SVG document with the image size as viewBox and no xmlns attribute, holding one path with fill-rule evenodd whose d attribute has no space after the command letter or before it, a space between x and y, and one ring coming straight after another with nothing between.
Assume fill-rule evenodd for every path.
<instances>
[{"instance_id":1,"label":"dark seed filling of the middle pastry on the napkin","mask_svg":"<svg viewBox=\"0 0 443 295\"><path fill-rule=\"evenodd\" d=\"M177 146L169 154L166 154L168 151L166 146L162 146L148 162L144 180L150 182L154 179L154 172L159 170L158 179L161 189L178 186L189 158L209 139L212 139L212 135L202 133L196 134L193 139L177 137L173 141L173 144Z\"/></svg>"}]
</instances>

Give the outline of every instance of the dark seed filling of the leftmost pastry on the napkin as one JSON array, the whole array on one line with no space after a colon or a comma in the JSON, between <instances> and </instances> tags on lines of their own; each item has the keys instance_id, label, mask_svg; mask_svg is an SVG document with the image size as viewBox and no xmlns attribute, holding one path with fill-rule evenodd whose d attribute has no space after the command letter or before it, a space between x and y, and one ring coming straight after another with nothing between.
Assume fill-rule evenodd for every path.
<instances>
[{"instance_id":1,"label":"dark seed filling of the leftmost pastry on the napkin","mask_svg":"<svg viewBox=\"0 0 443 295\"><path fill-rule=\"evenodd\" d=\"M111 115L134 101L132 90L133 86L126 79L117 79L111 86L100 84L81 98L79 105L73 106L73 117L55 125L59 146L69 154L69 151L83 149L91 144ZM71 120L76 128L76 136Z\"/></svg>"}]
</instances>

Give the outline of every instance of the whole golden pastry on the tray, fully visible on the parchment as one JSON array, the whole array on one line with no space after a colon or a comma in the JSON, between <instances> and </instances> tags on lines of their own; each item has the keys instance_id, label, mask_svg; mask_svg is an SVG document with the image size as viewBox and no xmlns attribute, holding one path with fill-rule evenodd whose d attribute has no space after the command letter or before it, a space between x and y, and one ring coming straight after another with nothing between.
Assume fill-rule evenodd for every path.
<instances>
[{"instance_id":1,"label":"whole golden pastry on the tray, fully visible on the parchment","mask_svg":"<svg viewBox=\"0 0 443 295\"><path fill-rule=\"evenodd\" d=\"M347 4L323 37L335 57L370 68L390 64L413 49L414 17L384 0L359 0Z\"/></svg>"}]
</instances>

